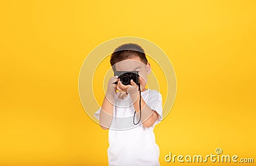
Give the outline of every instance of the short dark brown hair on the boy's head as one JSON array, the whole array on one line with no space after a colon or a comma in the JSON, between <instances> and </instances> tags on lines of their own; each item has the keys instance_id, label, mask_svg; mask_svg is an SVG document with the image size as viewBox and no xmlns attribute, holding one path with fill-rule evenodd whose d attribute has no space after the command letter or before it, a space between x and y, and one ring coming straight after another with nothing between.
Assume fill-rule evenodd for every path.
<instances>
[{"instance_id":1,"label":"short dark brown hair on the boy's head","mask_svg":"<svg viewBox=\"0 0 256 166\"><path fill-rule=\"evenodd\" d=\"M136 43L125 43L120 45L114 50L110 57L110 64L113 68L113 71L115 71L114 64L136 56L140 57L143 63L148 63L146 54L140 45Z\"/></svg>"}]
</instances>

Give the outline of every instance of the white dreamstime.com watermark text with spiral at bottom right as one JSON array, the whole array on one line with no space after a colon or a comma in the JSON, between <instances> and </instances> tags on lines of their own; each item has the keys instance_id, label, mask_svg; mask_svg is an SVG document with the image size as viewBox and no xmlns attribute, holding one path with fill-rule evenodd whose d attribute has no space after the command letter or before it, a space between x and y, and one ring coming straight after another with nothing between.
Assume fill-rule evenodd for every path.
<instances>
[{"instance_id":1,"label":"white dreamstime.com watermark text with spiral at bottom right","mask_svg":"<svg viewBox=\"0 0 256 166\"><path fill-rule=\"evenodd\" d=\"M222 149L220 147L215 149L215 153L214 154L210 154L210 155L206 155L205 157L203 157L202 155L172 155L172 153L170 152L169 155L164 156L164 160L165 162L180 162L180 163L206 163L208 162L208 160L210 160L212 163L218 162L218 163L230 163L231 161L234 163L253 163L253 158L240 158L239 160L239 156L237 155L221 155L223 153Z\"/></svg>"}]
</instances>

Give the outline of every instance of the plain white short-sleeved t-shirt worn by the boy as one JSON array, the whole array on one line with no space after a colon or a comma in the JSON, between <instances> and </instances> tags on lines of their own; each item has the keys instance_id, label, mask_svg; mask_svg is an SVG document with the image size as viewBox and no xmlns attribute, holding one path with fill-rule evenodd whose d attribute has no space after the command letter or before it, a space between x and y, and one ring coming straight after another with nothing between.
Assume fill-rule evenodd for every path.
<instances>
[{"instance_id":1,"label":"plain white short-sleeved t-shirt worn by the boy","mask_svg":"<svg viewBox=\"0 0 256 166\"><path fill-rule=\"evenodd\" d=\"M117 93L119 95L120 92ZM146 128L141 121L138 123L140 113L134 118L134 107L131 97L124 99L115 97L115 106L113 109L113 121L109 128L109 147L108 162L109 165L128 166L128 165L159 165L159 147L156 144L154 126L163 118L163 101L161 94L152 89L141 92L141 98L147 105L160 115L160 120L153 126ZM142 109L142 108L141 108ZM100 109L94 116L99 119Z\"/></svg>"}]
</instances>

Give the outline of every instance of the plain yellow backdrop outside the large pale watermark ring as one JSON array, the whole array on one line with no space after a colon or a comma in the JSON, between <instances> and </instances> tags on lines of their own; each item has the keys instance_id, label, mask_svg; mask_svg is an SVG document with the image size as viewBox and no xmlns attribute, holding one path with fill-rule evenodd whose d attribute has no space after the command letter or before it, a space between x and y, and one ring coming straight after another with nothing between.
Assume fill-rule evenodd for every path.
<instances>
[{"instance_id":1,"label":"plain yellow backdrop outside the large pale watermark ring","mask_svg":"<svg viewBox=\"0 0 256 166\"><path fill-rule=\"evenodd\" d=\"M121 36L153 41L175 69L173 109L155 128L161 165L186 164L164 162L169 152L216 147L256 160L255 8L256 1L1 1L0 165L108 164L108 130L84 112L77 82L89 52Z\"/></svg>"}]
</instances>

